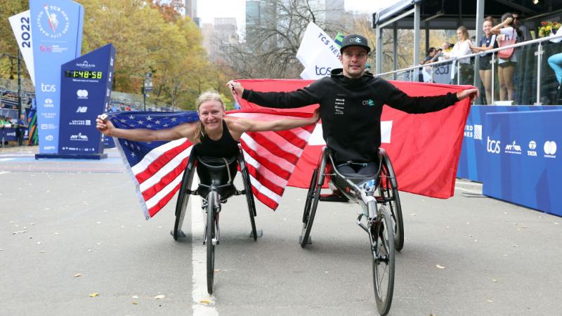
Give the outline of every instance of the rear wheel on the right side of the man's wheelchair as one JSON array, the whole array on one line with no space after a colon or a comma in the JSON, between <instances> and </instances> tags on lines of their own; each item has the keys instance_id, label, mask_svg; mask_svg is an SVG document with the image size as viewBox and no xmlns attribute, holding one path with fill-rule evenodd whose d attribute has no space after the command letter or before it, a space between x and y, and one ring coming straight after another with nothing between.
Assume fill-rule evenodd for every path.
<instances>
[{"instance_id":1,"label":"rear wheel on the right side of the man's wheelchair","mask_svg":"<svg viewBox=\"0 0 562 316\"><path fill-rule=\"evenodd\" d=\"M379 186L379 195L385 199L385 204L390 209L392 227L394 228L394 247L396 250L402 250L404 246L404 220L402 216L402 206L400 205L400 196L398 195L398 188L393 187L390 178L388 178L389 173L386 166L384 166L384 173L386 177L382 177L384 180L384 186Z\"/></svg>"}]
</instances>

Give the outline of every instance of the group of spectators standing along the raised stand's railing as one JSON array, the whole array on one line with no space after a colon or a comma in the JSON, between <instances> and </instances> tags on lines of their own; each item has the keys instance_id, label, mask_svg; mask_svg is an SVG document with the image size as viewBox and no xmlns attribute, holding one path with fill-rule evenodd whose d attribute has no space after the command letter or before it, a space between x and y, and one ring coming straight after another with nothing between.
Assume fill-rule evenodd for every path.
<instances>
[{"instance_id":1,"label":"group of spectators standing along the raised stand's railing","mask_svg":"<svg viewBox=\"0 0 562 316\"><path fill-rule=\"evenodd\" d=\"M483 37L481 37L478 44L473 43L469 36L468 29L464 26L457 28L457 43L452 46L445 42L440 48L431 47L427 51L424 60L420 64L431 64L438 60L457 58L458 73L460 84L473 84L474 68L471 58L462 58L471 53L481 53L478 62L478 74L480 75L484 91L485 91L485 104L492 103L492 53L485 53L494 48L516 44L522 41L532 39L531 32L520 21L518 13L505 13L502 15L501 22L495 22L492 17L484 19L482 30ZM551 34L556 34L556 29L552 29ZM499 85L495 88L499 90L499 98L495 96L495 100L500 101L513 101L515 94L514 87L514 74L517 66L516 50L507 48L495 53L496 73ZM548 58L548 63L558 82L558 89L562 84L562 53L554 53ZM456 83L456 81L453 81Z\"/></svg>"}]
</instances>

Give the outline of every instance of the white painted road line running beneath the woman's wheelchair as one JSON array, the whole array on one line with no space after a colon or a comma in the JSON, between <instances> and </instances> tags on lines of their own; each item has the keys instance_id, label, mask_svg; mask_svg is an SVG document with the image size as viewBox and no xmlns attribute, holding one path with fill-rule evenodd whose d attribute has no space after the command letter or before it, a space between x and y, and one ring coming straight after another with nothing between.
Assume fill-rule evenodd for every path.
<instances>
[{"instance_id":1,"label":"white painted road line running beneath the woman's wheelchair","mask_svg":"<svg viewBox=\"0 0 562 316\"><path fill-rule=\"evenodd\" d=\"M193 185L199 183L197 174L193 177ZM194 316L215 316L218 315L214 307L214 296L207 293L207 247L203 245L203 232L205 221L201 209L201 198L191 196L191 247L192 247L192 266L193 266L193 291L192 291L192 310ZM202 303L208 301L209 303Z\"/></svg>"}]
</instances>

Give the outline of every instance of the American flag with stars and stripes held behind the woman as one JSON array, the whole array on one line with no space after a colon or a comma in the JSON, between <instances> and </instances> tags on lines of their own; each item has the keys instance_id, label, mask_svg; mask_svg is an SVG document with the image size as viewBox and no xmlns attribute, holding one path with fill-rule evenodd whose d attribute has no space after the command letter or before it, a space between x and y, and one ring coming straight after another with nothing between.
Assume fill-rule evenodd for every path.
<instances>
[{"instance_id":1,"label":"American flag with stars and stripes held behind the woman","mask_svg":"<svg viewBox=\"0 0 562 316\"><path fill-rule=\"evenodd\" d=\"M275 110L237 110L227 115L269 121L310 117L302 112ZM109 119L119 129L167 129L198 121L197 112L115 112ZM254 196L270 209L277 209L296 162L308 142L314 125L289 131L244 133L240 138L244 161L250 174ZM115 138L127 172L146 219L160 211L181 187L192 143L187 138L170 142L134 142Z\"/></svg>"}]
</instances>

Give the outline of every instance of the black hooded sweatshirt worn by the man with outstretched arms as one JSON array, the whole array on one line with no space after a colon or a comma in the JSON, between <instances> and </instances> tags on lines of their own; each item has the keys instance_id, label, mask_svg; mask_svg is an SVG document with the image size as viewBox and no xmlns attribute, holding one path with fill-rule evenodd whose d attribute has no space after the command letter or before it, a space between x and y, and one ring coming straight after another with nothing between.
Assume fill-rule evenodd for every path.
<instances>
[{"instance_id":1,"label":"black hooded sweatshirt worn by the man with outstretched arms","mask_svg":"<svg viewBox=\"0 0 562 316\"><path fill-rule=\"evenodd\" d=\"M365 72L358 79L345 77L341 68L330 77L292 92L257 92L244 89L242 98L264 107L293 108L320 104L322 133L336 163L378 160L382 106L407 113L436 112L458 101L456 93L410 97L388 81Z\"/></svg>"}]
</instances>

